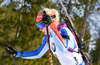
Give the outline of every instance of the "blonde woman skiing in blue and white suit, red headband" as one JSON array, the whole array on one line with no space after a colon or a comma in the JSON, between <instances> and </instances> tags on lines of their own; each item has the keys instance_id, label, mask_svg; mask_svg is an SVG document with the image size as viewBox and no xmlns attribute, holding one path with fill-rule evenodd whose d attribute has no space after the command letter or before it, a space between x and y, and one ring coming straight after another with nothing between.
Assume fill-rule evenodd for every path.
<instances>
[{"instance_id":1,"label":"blonde woman skiing in blue and white suit, red headband","mask_svg":"<svg viewBox=\"0 0 100 65\"><path fill-rule=\"evenodd\" d=\"M48 16L46 17L44 15L44 11L52 22L45 23ZM46 30L46 25L48 25L50 50L61 65L85 65L81 54L78 52L78 45L73 34L66 27L65 23L59 24L59 13L57 10L48 8L40 10L37 14L35 25L45 34L40 47L32 51L16 51L12 47L9 47L10 50L6 49L9 55L21 57L23 59L42 57L49 49Z\"/></svg>"}]
</instances>

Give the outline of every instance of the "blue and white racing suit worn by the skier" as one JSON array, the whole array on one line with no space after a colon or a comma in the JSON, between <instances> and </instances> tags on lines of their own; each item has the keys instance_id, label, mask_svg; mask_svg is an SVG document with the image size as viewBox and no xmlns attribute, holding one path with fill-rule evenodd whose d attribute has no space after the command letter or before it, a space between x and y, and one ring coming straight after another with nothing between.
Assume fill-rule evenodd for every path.
<instances>
[{"instance_id":1,"label":"blue and white racing suit worn by the skier","mask_svg":"<svg viewBox=\"0 0 100 65\"><path fill-rule=\"evenodd\" d=\"M50 32L50 49L55 57L59 60L61 65L85 65L80 53L68 51L68 48L71 48L74 51L78 51L76 40L68 28L63 27L59 30L61 36L69 36L69 39L64 38L66 41L66 46L63 45L61 40L52 29L50 29ZM48 51L48 43L46 42L46 37L47 35L44 36L42 44L37 50L23 51L22 58L35 59L42 57ZM22 51L17 51L16 57L20 57L21 52Z\"/></svg>"}]
</instances>

